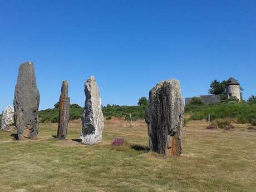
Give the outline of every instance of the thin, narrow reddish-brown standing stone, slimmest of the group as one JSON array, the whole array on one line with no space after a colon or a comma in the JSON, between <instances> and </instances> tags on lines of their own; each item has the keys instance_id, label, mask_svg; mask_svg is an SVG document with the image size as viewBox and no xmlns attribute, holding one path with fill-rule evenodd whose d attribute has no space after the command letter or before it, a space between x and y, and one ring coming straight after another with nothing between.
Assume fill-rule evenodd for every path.
<instances>
[{"instance_id":1,"label":"thin, narrow reddish-brown standing stone, slimmest of the group","mask_svg":"<svg viewBox=\"0 0 256 192\"><path fill-rule=\"evenodd\" d=\"M60 107L58 115L58 139L66 139L68 120L70 119L70 98L68 97L68 82L62 81Z\"/></svg>"}]
</instances>

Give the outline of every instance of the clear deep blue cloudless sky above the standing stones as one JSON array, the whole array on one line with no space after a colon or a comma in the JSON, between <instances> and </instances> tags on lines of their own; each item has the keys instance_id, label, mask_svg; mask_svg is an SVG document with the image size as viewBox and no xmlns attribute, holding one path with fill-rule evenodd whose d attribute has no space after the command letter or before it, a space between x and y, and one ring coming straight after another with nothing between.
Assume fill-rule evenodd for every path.
<instances>
[{"instance_id":1,"label":"clear deep blue cloudless sky above the standing stones","mask_svg":"<svg viewBox=\"0 0 256 192\"><path fill-rule=\"evenodd\" d=\"M0 0L0 110L13 103L18 66L35 63L40 109L61 81L84 105L96 77L103 105L136 105L159 81L176 78L183 97L207 94L234 76L256 94L256 1Z\"/></svg>"}]
</instances>

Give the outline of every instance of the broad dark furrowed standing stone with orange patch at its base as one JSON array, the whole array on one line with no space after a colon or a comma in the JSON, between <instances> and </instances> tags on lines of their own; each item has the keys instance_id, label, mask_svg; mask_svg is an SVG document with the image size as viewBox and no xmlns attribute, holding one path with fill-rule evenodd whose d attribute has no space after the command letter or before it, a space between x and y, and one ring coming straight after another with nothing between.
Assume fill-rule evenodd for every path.
<instances>
[{"instance_id":1,"label":"broad dark furrowed standing stone with orange patch at its base","mask_svg":"<svg viewBox=\"0 0 256 192\"><path fill-rule=\"evenodd\" d=\"M149 93L146 123L151 151L180 156L184 106L178 80L157 83Z\"/></svg>"}]
</instances>

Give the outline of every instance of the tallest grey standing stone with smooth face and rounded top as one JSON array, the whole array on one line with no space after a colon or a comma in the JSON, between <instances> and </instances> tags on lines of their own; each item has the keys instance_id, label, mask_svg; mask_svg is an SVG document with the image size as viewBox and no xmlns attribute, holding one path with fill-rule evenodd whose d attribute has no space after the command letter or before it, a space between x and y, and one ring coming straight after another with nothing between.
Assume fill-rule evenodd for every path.
<instances>
[{"instance_id":1,"label":"tallest grey standing stone with smooth face and rounded top","mask_svg":"<svg viewBox=\"0 0 256 192\"><path fill-rule=\"evenodd\" d=\"M14 122L18 129L19 140L37 136L39 102L40 93L36 85L34 64L22 63L19 66L13 101Z\"/></svg>"}]
</instances>

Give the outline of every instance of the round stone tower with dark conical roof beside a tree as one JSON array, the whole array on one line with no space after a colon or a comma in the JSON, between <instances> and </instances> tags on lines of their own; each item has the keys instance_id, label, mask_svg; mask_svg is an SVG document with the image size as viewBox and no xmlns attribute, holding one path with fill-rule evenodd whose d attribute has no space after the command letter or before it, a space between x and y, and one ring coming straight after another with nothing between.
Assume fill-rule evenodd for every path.
<instances>
[{"instance_id":1,"label":"round stone tower with dark conical roof beside a tree","mask_svg":"<svg viewBox=\"0 0 256 192\"><path fill-rule=\"evenodd\" d=\"M227 98L230 99L231 97L237 97L237 99L240 101L240 83L235 80L234 77L229 78L229 80L226 83L226 93Z\"/></svg>"}]
</instances>

